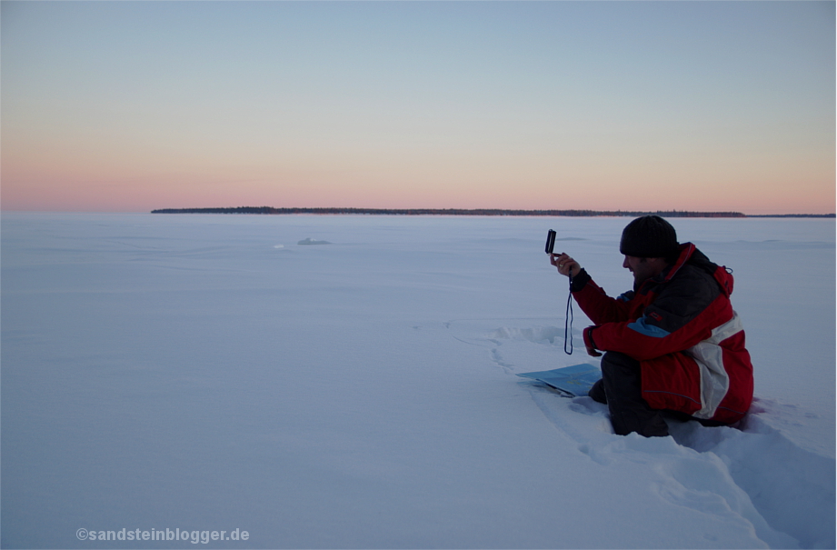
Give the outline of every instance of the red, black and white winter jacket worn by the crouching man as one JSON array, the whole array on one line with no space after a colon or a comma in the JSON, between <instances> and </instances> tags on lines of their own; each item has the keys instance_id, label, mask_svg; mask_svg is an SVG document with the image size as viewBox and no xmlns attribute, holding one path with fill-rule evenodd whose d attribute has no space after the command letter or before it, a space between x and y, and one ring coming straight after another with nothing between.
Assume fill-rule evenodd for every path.
<instances>
[{"instance_id":1,"label":"red, black and white winter jacket worn by the crouching man","mask_svg":"<svg viewBox=\"0 0 837 550\"><path fill-rule=\"evenodd\" d=\"M595 325L584 343L640 361L643 398L670 409L731 424L752 402L752 364L741 320L732 310L732 275L692 243L673 265L618 298L585 271L573 296Z\"/></svg>"}]
</instances>

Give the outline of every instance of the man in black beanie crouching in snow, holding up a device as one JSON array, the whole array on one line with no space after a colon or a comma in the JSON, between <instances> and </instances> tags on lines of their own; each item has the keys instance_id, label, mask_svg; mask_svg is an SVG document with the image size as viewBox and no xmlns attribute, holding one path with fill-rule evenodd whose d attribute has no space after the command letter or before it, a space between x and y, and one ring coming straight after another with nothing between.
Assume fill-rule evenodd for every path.
<instances>
[{"instance_id":1,"label":"man in black beanie crouching in snow, holding up a device","mask_svg":"<svg viewBox=\"0 0 837 550\"><path fill-rule=\"evenodd\" d=\"M752 402L752 364L730 303L732 275L692 243L678 244L657 215L628 224L619 250L633 291L618 298L570 256L550 256L595 323L583 333L590 355L604 352L590 396L608 405L613 431L668 435L663 410L704 425L741 420Z\"/></svg>"}]
</instances>

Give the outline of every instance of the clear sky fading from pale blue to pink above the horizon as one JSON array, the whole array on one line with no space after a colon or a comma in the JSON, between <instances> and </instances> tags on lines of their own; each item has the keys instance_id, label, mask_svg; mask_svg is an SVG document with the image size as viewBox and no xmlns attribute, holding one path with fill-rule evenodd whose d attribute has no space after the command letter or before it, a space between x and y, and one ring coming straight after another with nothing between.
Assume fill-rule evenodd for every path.
<instances>
[{"instance_id":1,"label":"clear sky fading from pale blue to pink above the horizon","mask_svg":"<svg viewBox=\"0 0 837 550\"><path fill-rule=\"evenodd\" d=\"M833 2L0 3L0 207L835 211Z\"/></svg>"}]
</instances>

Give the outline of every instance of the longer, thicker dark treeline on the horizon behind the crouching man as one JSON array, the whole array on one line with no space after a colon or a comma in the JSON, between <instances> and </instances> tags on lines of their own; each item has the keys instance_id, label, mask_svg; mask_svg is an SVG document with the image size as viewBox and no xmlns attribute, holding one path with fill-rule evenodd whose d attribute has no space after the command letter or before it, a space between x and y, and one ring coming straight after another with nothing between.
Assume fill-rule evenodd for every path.
<instances>
[{"instance_id":1,"label":"longer, thicker dark treeline on the horizon behind the crouching man","mask_svg":"<svg viewBox=\"0 0 837 550\"><path fill-rule=\"evenodd\" d=\"M669 210L636 212L630 210L503 210L499 208L274 208L272 206L238 206L235 208L163 208L152 214L320 214L320 215L549 215L549 216L630 216L660 215L663 217L747 217L741 212L689 212ZM833 217L833 215L832 215Z\"/></svg>"}]
</instances>

